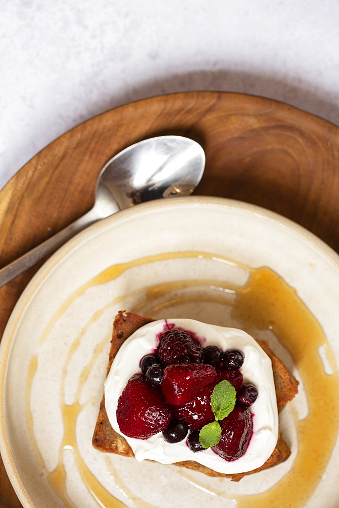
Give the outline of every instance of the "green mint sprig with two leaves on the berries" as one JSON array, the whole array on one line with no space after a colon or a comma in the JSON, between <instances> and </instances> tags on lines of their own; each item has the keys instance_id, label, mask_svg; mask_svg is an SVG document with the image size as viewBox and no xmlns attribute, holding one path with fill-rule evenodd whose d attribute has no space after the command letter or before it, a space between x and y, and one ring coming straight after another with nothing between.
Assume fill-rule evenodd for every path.
<instances>
[{"instance_id":1,"label":"green mint sprig with two leaves on the berries","mask_svg":"<svg viewBox=\"0 0 339 508\"><path fill-rule=\"evenodd\" d=\"M211 407L215 421L204 425L199 432L199 441L203 448L215 446L220 441L221 426L218 420L223 420L233 411L235 397L235 388L226 379L214 387Z\"/></svg>"}]
</instances>

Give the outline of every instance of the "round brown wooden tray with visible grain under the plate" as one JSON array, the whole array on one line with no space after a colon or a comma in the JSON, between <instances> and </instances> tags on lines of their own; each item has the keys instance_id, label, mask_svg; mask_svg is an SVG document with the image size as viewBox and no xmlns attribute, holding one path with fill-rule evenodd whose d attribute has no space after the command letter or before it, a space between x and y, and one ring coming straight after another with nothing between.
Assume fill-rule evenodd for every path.
<instances>
[{"instance_id":1,"label":"round brown wooden tray with visible grain under the plate","mask_svg":"<svg viewBox=\"0 0 339 508\"><path fill-rule=\"evenodd\" d=\"M274 210L339 252L339 128L260 97L188 92L96 116L33 157L0 192L0 266L89 210L96 177L115 153L161 134L185 135L204 147L206 171L196 194ZM0 289L0 336L38 268ZM2 462L0 506L21 507Z\"/></svg>"}]
</instances>

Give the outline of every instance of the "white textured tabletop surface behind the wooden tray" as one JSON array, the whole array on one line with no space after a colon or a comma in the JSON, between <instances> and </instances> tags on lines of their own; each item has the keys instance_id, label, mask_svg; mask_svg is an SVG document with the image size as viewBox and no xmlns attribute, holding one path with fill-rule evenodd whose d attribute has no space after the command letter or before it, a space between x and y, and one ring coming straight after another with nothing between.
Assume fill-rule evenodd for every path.
<instances>
[{"instance_id":1,"label":"white textured tabletop surface behind the wooden tray","mask_svg":"<svg viewBox=\"0 0 339 508\"><path fill-rule=\"evenodd\" d=\"M339 0L0 0L0 188L78 123L230 90L339 124Z\"/></svg>"}]
</instances>

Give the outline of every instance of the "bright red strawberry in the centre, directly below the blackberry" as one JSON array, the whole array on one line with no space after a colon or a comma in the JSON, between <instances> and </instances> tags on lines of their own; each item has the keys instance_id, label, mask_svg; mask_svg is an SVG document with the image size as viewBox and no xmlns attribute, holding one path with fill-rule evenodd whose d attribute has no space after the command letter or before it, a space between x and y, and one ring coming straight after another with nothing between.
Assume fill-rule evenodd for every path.
<instances>
[{"instance_id":1,"label":"bright red strawberry in the centre, directly below the blackberry","mask_svg":"<svg viewBox=\"0 0 339 508\"><path fill-rule=\"evenodd\" d=\"M205 363L168 365L163 371L162 392L169 404L182 406L213 382L216 370Z\"/></svg>"}]
</instances>

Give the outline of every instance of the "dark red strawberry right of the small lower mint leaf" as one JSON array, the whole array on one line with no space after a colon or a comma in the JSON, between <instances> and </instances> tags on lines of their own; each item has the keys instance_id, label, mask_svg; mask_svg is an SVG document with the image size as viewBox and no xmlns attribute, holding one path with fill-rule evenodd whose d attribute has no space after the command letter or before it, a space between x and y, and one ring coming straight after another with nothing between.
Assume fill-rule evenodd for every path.
<instances>
[{"instance_id":1,"label":"dark red strawberry right of the small lower mint leaf","mask_svg":"<svg viewBox=\"0 0 339 508\"><path fill-rule=\"evenodd\" d=\"M239 459L252 436L252 417L245 406L235 406L221 422L221 438L212 450L225 460Z\"/></svg>"}]
</instances>

